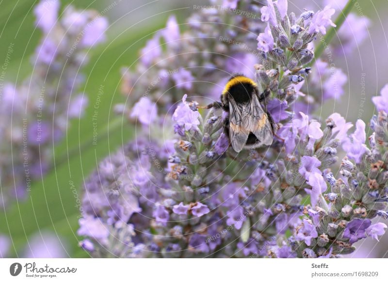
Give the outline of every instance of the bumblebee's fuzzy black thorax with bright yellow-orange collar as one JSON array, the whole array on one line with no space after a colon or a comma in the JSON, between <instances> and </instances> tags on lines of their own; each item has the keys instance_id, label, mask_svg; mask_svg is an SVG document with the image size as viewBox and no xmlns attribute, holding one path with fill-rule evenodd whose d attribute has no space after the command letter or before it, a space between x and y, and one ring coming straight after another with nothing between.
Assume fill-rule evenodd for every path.
<instances>
[{"instance_id":1,"label":"bumblebee's fuzzy black thorax with bright yellow-orange collar","mask_svg":"<svg viewBox=\"0 0 388 282\"><path fill-rule=\"evenodd\" d=\"M252 79L236 75L231 77L226 83L222 94L229 94L236 103L244 103L252 99L252 95L256 93L256 86Z\"/></svg>"}]
</instances>

